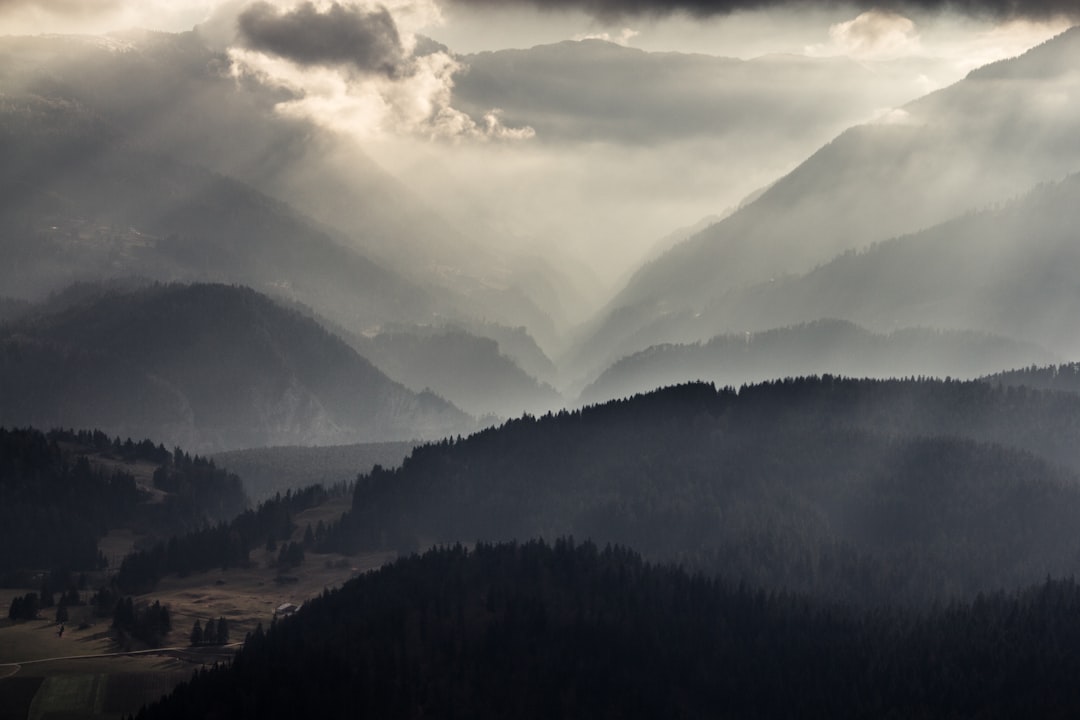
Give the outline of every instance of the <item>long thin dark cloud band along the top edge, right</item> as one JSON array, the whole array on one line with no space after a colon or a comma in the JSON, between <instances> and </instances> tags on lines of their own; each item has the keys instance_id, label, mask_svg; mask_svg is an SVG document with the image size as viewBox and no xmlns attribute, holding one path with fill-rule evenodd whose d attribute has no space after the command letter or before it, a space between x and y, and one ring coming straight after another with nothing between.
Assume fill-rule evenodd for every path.
<instances>
[{"instance_id":1,"label":"long thin dark cloud band along the top edge, right","mask_svg":"<svg viewBox=\"0 0 1080 720\"><path fill-rule=\"evenodd\" d=\"M474 8L531 5L540 10L581 10L596 17L615 19L635 15L687 13L698 17L725 15L743 10L853 6L879 11L951 11L999 18L1080 17L1077 0L448 0Z\"/></svg>"}]
</instances>

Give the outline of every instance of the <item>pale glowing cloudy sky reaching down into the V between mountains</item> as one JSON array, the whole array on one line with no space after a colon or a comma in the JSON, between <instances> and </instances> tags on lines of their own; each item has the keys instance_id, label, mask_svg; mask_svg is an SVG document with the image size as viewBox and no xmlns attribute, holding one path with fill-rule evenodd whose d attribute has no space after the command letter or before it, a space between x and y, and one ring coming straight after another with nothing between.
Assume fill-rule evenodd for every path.
<instances>
[{"instance_id":1,"label":"pale glowing cloudy sky reaching down into the V between mountains","mask_svg":"<svg viewBox=\"0 0 1080 720\"><path fill-rule=\"evenodd\" d=\"M1053 37L1075 5L0 0L0 32L198 26L238 77L289 93L279 112L355 142L485 242L581 269L598 302L673 231ZM489 54L586 39L616 46Z\"/></svg>"}]
</instances>

